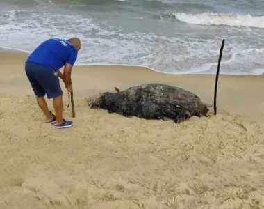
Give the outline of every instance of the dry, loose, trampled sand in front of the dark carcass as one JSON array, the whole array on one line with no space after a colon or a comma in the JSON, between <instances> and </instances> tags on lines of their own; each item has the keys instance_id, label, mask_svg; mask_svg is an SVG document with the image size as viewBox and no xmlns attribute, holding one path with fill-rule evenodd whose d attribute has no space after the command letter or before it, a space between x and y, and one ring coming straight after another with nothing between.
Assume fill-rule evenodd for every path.
<instances>
[{"instance_id":1,"label":"dry, loose, trampled sand in front of the dark carcass","mask_svg":"<svg viewBox=\"0 0 264 209\"><path fill-rule=\"evenodd\" d=\"M74 127L56 130L34 97L0 99L0 208L264 207L261 123L146 121L76 100Z\"/></svg>"}]
</instances>

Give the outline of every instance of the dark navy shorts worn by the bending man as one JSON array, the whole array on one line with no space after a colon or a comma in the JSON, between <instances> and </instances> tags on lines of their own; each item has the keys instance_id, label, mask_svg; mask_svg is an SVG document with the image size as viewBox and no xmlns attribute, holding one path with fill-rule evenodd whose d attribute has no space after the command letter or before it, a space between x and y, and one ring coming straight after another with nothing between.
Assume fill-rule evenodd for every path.
<instances>
[{"instance_id":1,"label":"dark navy shorts worn by the bending man","mask_svg":"<svg viewBox=\"0 0 264 209\"><path fill-rule=\"evenodd\" d=\"M56 72L37 63L28 62L25 65L26 76L37 97L56 98L63 95Z\"/></svg>"}]
</instances>

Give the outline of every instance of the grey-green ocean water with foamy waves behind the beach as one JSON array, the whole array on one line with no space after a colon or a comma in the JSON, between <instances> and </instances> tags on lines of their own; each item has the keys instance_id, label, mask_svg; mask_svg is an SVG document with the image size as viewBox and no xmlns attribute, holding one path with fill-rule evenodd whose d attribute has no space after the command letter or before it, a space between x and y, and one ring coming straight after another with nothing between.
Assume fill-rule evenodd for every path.
<instances>
[{"instance_id":1,"label":"grey-green ocean water with foamy waves behind the beach","mask_svg":"<svg viewBox=\"0 0 264 209\"><path fill-rule=\"evenodd\" d=\"M263 0L0 0L0 47L79 37L76 65L140 65L170 74L264 72Z\"/></svg>"}]
</instances>

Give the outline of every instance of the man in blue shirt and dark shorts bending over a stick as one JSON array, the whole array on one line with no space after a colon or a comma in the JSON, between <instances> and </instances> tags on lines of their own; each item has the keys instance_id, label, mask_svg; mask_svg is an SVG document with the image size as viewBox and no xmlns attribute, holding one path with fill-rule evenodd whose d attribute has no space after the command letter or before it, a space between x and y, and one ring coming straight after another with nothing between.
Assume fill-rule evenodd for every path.
<instances>
[{"instance_id":1,"label":"man in blue shirt and dark shorts bending over a stick","mask_svg":"<svg viewBox=\"0 0 264 209\"><path fill-rule=\"evenodd\" d=\"M56 128L72 127L72 121L63 118L63 91L58 77L65 83L67 91L72 91L72 67L81 49L79 38L69 40L53 38L42 42L25 63L25 71L36 95L39 107L47 117L46 123L54 124ZM63 73L60 68L64 65ZM46 100L53 99L56 116L49 111Z\"/></svg>"}]
</instances>

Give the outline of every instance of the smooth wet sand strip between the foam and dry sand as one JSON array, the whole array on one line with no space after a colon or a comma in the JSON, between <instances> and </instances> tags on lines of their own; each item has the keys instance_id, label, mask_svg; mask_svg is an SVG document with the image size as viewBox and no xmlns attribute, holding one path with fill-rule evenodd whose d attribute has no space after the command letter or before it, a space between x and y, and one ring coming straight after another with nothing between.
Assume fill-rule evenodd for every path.
<instances>
[{"instance_id":1,"label":"smooth wet sand strip between the foam and dry sand","mask_svg":"<svg viewBox=\"0 0 264 209\"><path fill-rule=\"evenodd\" d=\"M2 70L0 94L33 95L24 74L24 61L28 54L8 51L0 52L0 55L1 68L8 69ZM264 121L264 105L261 105L264 104L264 98L258 93L264 88L263 79L264 75L220 75L217 109L250 120ZM115 92L115 86L122 91L131 86L156 82L192 91L204 103L212 106L215 89L215 75L167 75L149 68L123 65L74 66L72 81L74 98L80 100L104 91ZM63 84L60 84L65 92Z\"/></svg>"}]
</instances>

